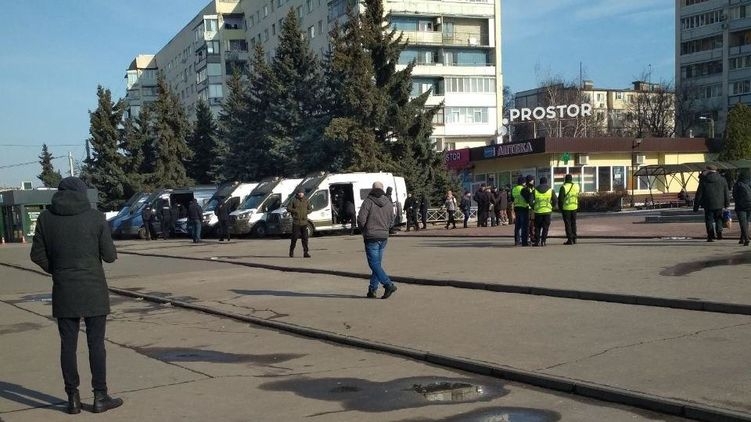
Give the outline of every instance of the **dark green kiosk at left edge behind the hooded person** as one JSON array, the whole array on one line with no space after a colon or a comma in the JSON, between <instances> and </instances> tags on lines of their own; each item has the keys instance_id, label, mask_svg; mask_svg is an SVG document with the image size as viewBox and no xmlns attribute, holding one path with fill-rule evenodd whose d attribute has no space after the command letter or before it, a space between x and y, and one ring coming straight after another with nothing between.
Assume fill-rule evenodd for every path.
<instances>
[{"instance_id":1,"label":"dark green kiosk at left edge behind the hooded person","mask_svg":"<svg viewBox=\"0 0 751 422\"><path fill-rule=\"evenodd\" d=\"M0 235L6 242L31 240L39 214L47 209L57 189L9 190L0 192ZM89 189L91 207L96 208L97 190Z\"/></svg>"}]
</instances>

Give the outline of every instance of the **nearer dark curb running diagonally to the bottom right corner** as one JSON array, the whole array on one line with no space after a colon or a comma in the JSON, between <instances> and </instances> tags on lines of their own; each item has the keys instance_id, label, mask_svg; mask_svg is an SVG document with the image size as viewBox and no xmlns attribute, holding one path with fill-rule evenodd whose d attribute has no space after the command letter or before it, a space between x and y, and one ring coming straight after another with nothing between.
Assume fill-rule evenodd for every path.
<instances>
[{"instance_id":1,"label":"nearer dark curb running diagonally to the bottom right corner","mask_svg":"<svg viewBox=\"0 0 751 422\"><path fill-rule=\"evenodd\" d=\"M150 302L170 304L179 308L204 312L210 315L221 316L234 319L237 321L247 322L265 328L297 334L303 337L317 340L330 341L345 346L357 347L366 350L389 353L392 355L402 356L430 364L458 369L474 374L490 376L494 378L505 379L508 381L519 382L522 384L533 385L536 387L555 390L564 393L574 394L577 396L591 399L628 405L641 409L647 409L663 414L680 416L699 421L715 422L749 422L751 415L735 412L727 409L715 408L698 403L684 402L675 399L668 399L660 396L650 395L638 391L625 390L606 385L589 383L585 381L574 380L555 375L526 371L505 365L492 364L488 362L476 361L472 359L435 354L423 350L416 350L407 347L391 345L370 341L358 337L342 335L330 331L318 330L304 327L296 324L284 323L279 321L269 321L266 319L234 314L231 312L213 309L208 306L194 305L178 300L170 300L164 297L157 297L136 293L129 290L110 288L111 292L132 297L141 298Z\"/></svg>"}]
</instances>

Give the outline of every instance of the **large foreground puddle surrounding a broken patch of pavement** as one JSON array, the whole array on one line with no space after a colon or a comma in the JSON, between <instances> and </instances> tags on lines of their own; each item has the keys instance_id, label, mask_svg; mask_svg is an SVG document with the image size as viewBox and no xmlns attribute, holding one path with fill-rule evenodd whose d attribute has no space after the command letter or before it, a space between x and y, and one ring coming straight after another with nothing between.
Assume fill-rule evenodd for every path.
<instances>
[{"instance_id":1,"label":"large foreground puddle surrounding a broken patch of pavement","mask_svg":"<svg viewBox=\"0 0 751 422\"><path fill-rule=\"evenodd\" d=\"M359 378L294 377L269 382L260 388L289 391L301 397L338 402L346 410L361 412L388 412L442 404L489 402L508 394L500 381L489 378L409 377L373 382ZM378 400L373 400L373 397L378 397Z\"/></svg>"}]
</instances>

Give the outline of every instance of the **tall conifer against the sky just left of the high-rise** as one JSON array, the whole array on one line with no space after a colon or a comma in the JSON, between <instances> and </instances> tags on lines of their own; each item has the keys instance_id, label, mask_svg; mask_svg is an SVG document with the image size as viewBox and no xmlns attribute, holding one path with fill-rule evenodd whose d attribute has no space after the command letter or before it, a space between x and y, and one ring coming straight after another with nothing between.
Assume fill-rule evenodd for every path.
<instances>
[{"instance_id":1,"label":"tall conifer against the sky just left of the high-rise","mask_svg":"<svg viewBox=\"0 0 751 422\"><path fill-rule=\"evenodd\" d=\"M105 209L114 209L123 200L126 175L123 156L118 152L122 123L123 101L112 101L109 89L97 87L97 109L89 112L91 126L88 143L91 155L86 159L84 175L90 185L99 190L99 202Z\"/></svg>"}]
</instances>

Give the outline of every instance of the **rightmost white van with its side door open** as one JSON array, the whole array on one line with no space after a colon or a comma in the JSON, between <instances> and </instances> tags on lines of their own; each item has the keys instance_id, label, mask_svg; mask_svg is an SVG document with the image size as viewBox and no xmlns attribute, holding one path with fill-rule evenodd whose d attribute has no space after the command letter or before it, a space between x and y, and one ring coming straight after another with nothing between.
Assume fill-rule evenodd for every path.
<instances>
[{"instance_id":1,"label":"rightmost white van with its side door open","mask_svg":"<svg viewBox=\"0 0 751 422\"><path fill-rule=\"evenodd\" d=\"M407 185L404 178L391 173L332 173L305 179L295 191L303 189L312 211L308 215L310 234L351 230L356 221L347 220L344 208L347 202L355 205L355 214L360 211L362 201L373 188L373 182L383 183L383 190L391 191L394 202L395 224L406 221L404 201L407 199ZM292 232L292 217L286 206L292 200L288 198L283 209L274 211L269 216L268 227L280 234ZM270 231L271 232L271 231Z\"/></svg>"}]
</instances>

